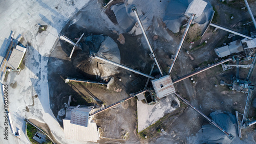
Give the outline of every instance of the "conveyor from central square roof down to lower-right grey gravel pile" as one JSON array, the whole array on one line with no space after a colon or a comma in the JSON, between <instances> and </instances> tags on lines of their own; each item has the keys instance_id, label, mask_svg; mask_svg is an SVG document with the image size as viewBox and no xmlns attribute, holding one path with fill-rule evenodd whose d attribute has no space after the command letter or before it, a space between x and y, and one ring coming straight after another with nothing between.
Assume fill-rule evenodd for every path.
<instances>
[{"instance_id":1,"label":"conveyor from central square roof down to lower-right grey gravel pile","mask_svg":"<svg viewBox=\"0 0 256 144\"><path fill-rule=\"evenodd\" d=\"M201 111L199 111L196 107L194 107L193 105L191 105L187 100L185 100L184 98L181 97L180 94L178 94L177 92L174 92L174 94L180 98L186 105L190 106L191 108L193 108L196 112L198 112L201 116L203 116L210 124L214 125L216 128L218 128L219 130L221 130L229 139L233 139L233 135L230 133L227 133L224 129L222 129L217 123L215 123L214 121L212 121L209 117L207 117L205 114L203 114Z\"/></svg>"}]
</instances>

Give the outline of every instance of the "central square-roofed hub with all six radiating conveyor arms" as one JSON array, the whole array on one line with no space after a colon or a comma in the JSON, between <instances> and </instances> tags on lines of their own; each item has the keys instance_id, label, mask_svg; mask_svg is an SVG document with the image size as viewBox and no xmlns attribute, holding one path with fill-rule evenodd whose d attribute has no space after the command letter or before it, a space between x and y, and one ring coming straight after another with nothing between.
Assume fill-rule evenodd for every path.
<instances>
[{"instance_id":1,"label":"central square-roofed hub with all six radiating conveyor arms","mask_svg":"<svg viewBox=\"0 0 256 144\"><path fill-rule=\"evenodd\" d=\"M191 108L193 108L194 110L196 110L200 115L202 115L210 124L212 124L213 126L217 127L219 130L221 130L229 139L232 139L232 138L234 137L232 134L227 133L223 128L221 128L220 126L218 126L217 123L215 123L214 121L212 121L209 117L207 117L207 116L204 115L201 111L199 111L198 109L196 109L193 105L191 105L190 103L188 103L188 101L186 101L184 98L182 98L180 94L176 93L173 84L174 84L174 83L178 83L178 82L180 82L180 81L182 81L182 80L184 80L184 79L187 79L187 78L189 78L189 77L191 77L191 76L197 75L197 74L201 73L202 71L205 71L205 70L207 70L207 69L210 69L210 68L212 68L212 67L215 67L215 66L217 66L217 65L220 65L220 64L222 64L222 63L231 61L231 60L233 60L233 59L232 59L232 58L228 58L228 59L226 59L226 60L222 60L222 61L219 61L219 62L214 63L214 64L209 64L209 65L206 66L206 67L203 67L203 68L201 68L201 69L199 69L199 70L195 70L195 71L193 71L192 73L189 73L189 74L187 74L187 75L185 75L185 76L182 76L182 77L180 77L180 78L177 78L177 79L175 79L175 80L172 80L172 79L170 78L169 75L170 75L170 73L172 72L173 66L174 66L175 61L176 61L176 59L177 59L177 57L178 57L178 54L179 54L179 52L180 52L180 50L181 50L181 47L182 47L183 42L184 42L184 40L185 40L186 34L188 33L188 30L189 30L189 27L190 27L190 25L191 25L191 22L193 21L193 18L194 18L194 16L195 16L195 14L192 14L191 17L190 17L189 20L188 20L188 25L187 25L187 27L186 27L186 30L185 30L184 34L183 34L182 40L181 40L181 42L180 42L180 44L179 44L177 53L176 53L176 55L175 55L175 59L173 60L172 65L170 66L170 69L169 69L169 71L168 71L168 75L163 76L162 70L161 70L161 67L160 67L160 64L158 63L156 54L155 54L155 52L154 52L154 50L153 50L153 48L152 48L152 45L151 45L150 41L148 40L148 37L147 37L145 31L144 31L144 28L143 28L142 23L141 23L141 21L140 21L140 18L139 18L139 15L138 15L138 13L137 13L136 7L132 7L132 10L133 10L133 12L135 13L137 22L139 23L139 26L140 26L140 28L141 28L141 31L142 31L142 33L143 33L143 35L144 35L144 37L145 37L145 39L146 39L146 42L147 42L147 44L148 44L148 47L150 47L151 55L153 56L153 58L154 58L154 60L155 60L155 63L152 65L152 69L151 69L150 75L147 75L147 74L145 74L145 73L142 73L142 72L139 71L139 70L133 69L133 68L128 67L128 66L125 66L125 65L123 65L123 64L116 63L116 62L114 62L114 61L108 60L108 59L103 58L103 57L101 57L101 56L98 56L97 54L94 54L94 53L91 54L90 57L91 57L91 58L95 58L95 59L97 59L97 60L101 60L101 61L110 63L110 64L113 64L113 65L116 65L116 66L121 67L121 68L124 68L124 69L126 69L126 70L130 70L130 71L132 71L132 72L134 72L134 73L136 73L136 74L145 76L145 77L148 78L148 81L149 81L149 79L152 79L151 82L152 82L152 84L153 84L153 87L146 88L147 83L148 83L148 81L147 81L144 90L141 90L141 91L139 91L139 92L137 92L137 93L131 93L131 94L130 94L130 97L127 97L127 98L125 98L125 99L123 99L123 100L121 100L121 101L118 101L118 102L116 102L116 103L114 103L114 104L111 104L111 105L109 105L109 106L106 106L106 107L104 107L104 108L102 108L102 109L100 109L100 110L98 110L98 111L96 111L96 112L90 114L90 116L95 115L95 114L98 114L98 113L100 113L100 112L102 112L102 111L105 111L105 110L107 110L107 109L109 109L109 108L112 108L112 107L114 107L114 106L116 106L116 105L118 105L118 104L121 104L122 102L125 102L125 101L127 101L127 100L130 100L130 99L132 99L132 98L134 98L134 97L136 97L136 96L139 98L139 95L144 94L145 92L150 93L150 94L148 94L148 96L151 96L151 97L152 97L152 100L155 101L155 102L157 101L157 99L164 98L166 95L171 94L171 93L174 93L174 94L175 94L178 98L180 98L185 104L187 104L188 106L190 106ZM157 67L158 67L158 69L159 69L160 75L163 76L163 77L155 78L155 77L151 76L152 70L153 70L155 64L157 65ZM158 85L159 85L159 87L161 87L161 88L162 88L162 87L165 87L166 90L165 90L165 91L158 90ZM145 97L145 96L144 96L144 97Z\"/></svg>"}]
</instances>

